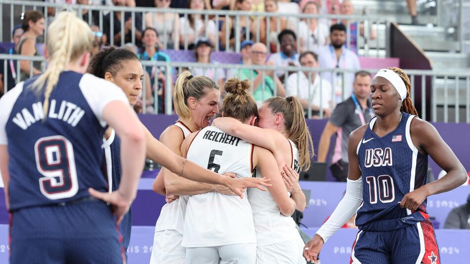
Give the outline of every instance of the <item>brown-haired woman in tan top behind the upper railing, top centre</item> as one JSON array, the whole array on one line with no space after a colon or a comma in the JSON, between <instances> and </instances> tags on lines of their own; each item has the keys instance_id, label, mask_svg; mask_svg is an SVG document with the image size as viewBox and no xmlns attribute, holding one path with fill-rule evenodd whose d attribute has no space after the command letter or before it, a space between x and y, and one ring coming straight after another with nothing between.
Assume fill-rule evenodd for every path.
<instances>
[{"instance_id":1,"label":"brown-haired woman in tan top behind the upper railing, top centre","mask_svg":"<svg viewBox=\"0 0 470 264\"><path fill-rule=\"evenodd\" d=\"M268 13L276 13L278 11L278 2L276 0L266 0L265 9ZM269 51L271 53L278 52L278 20L279 20L279 31L282 31L287 26L287 20L283 17L266 17L265 22L269 24L269 32L266 33L266 38L269 42ZM267 28L267 26L265 26ZM266 43L266 40L261 40L262 43Z\"/></svg>"}]
</instances>

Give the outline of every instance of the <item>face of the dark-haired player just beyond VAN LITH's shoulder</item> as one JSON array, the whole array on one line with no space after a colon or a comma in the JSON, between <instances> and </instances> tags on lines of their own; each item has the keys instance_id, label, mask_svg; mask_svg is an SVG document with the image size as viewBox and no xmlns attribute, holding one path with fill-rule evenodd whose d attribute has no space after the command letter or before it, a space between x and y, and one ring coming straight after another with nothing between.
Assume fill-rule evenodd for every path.
<instances>
[{"instance_id":1,"label":"face of the dark-haired player just beyond VAN LITH's shoulder","mask_svg":"<svg viewBox=\"0 0 470 264\"><path fill-rule=\"evenodd\" d=\"M106 73L105 79L119 86L129 99L129 103L135 105L142 90L142 64L138 60L127 60L123 64L124 67L115 76Z\"/></svg>"}]
</instances>

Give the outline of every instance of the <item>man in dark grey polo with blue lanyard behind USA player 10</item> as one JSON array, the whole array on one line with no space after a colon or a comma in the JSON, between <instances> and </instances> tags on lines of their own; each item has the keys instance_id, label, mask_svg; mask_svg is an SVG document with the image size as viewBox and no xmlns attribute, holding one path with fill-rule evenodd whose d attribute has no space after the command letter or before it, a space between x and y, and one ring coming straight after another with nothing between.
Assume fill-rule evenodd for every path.
<instances>
[{"instance_id":1,"label":"man in dark grey polo with blue lanyard behind USA player 10","mask_svg":"<svg viewBox=\"0 0 470 264\"><path fill-rule=\"evenodd\" d=\"M326 162L331 136L336 133L334 153L329 168L331 174L339 181L346 181L348 176L349 133L374 117L369 100L371 81L371 75L368 72L359 71L355 74L354 93L336 106L320 137L318 162Z\"/></svg>"}]
</instances>

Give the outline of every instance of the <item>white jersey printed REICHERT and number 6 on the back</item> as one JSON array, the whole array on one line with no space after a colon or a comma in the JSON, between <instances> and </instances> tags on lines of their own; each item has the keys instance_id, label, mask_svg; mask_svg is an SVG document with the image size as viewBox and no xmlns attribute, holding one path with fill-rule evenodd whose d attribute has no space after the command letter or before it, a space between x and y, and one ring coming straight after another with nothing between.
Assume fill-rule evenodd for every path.
<instances>
[{"instance_id":1,"label":"white jersey printed REICHERT and number 6 on the back","mask_svg":"<svg viewBox=\"0 0 470 264\"><path fill-rule=\"evenodd\" d=\"M251 177L253 145L216 127L198 132L188 149L188 160L219 174ZM188 199L182 246L213 247L256 243L251 207L246 198L211 191Z\"/></svg>"}]
</instances>

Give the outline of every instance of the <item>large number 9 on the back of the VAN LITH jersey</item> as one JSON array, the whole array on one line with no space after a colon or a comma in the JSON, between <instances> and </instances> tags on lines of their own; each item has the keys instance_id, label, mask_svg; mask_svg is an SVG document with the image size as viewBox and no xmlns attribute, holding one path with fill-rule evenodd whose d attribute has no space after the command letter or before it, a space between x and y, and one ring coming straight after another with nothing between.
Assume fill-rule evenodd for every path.
<instances>
[{"instance_id":1,"label":"large number 9 on the back of the VAN LITH jersey","mask_svg":"<svg viewBox=\"0 0 470 264\"><path fill-rule=\"evenodd\" d=\"M78 192L72 143L61 135L42 137L34 145L41 193L48 199L70 198Z\"/></svg>"}]
</instances>

